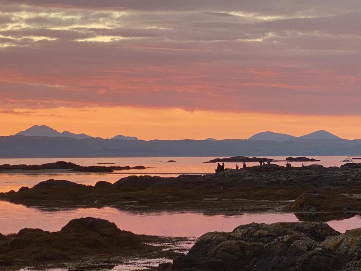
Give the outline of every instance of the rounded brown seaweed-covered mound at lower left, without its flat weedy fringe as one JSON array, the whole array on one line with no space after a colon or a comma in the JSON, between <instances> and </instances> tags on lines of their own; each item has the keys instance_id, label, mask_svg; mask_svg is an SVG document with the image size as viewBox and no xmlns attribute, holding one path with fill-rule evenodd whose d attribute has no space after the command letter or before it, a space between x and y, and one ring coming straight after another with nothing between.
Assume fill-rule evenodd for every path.
<instances>
[{"instance_id":1,"label":"rounded brown seaweed-covered mound at lower left, without its flat weedy fringe","mask_svg":"<svg viewBox=\"0 0 361 271\"><path fill-rule=\"evenodd\" d=\"M112 257L146 248L133 233L121 231L107 220L90 217L73 219L59 232L22 229L0 238L1 258L20 266L88 256ZM1 258L0 269L1 264L9 263L2 263Z\"/></svg>"}]
</instances>

